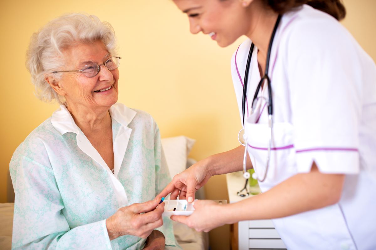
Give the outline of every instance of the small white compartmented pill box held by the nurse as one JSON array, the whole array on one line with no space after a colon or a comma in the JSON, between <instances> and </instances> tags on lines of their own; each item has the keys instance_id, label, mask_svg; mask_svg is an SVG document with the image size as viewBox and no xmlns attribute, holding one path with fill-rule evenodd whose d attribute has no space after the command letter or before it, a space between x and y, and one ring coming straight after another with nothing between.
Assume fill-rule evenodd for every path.
<instances>
[{"instance_id":1,"label":"small white compartmented pill box held by the nurse","mask_svg":"<svg viewBox=\"0 0 376 250\"><path fill-rule=\"evenodd\" d=\"M194 200L194 201L197 201ZM227 204L226 200L214 200L221 204ZM165 203L165 211L163 212L162 216L170 217L171 215L191 215L194 211L194 207L192 203L188 203L186 200L164 200Z\"/></svg>"}]
</instances>

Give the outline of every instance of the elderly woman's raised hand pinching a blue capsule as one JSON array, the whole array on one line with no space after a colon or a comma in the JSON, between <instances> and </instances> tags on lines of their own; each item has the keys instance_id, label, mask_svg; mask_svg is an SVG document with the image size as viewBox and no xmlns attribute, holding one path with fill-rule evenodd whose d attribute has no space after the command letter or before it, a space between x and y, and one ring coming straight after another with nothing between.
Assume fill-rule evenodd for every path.
<instances>
[{"instance_id":1,"label":"elderly woman's raised hand pinching a blue capsule","mask_svg":"<svg viewBox=\"0 0 376 250\"><path fill-rule=\"evenodd\" d=\"M122 235L135 235L147 238L153 229L163 225L164 202L154 199L119 208L106 220L108 236L114 240Z\"/></svg>"}]
</instances>

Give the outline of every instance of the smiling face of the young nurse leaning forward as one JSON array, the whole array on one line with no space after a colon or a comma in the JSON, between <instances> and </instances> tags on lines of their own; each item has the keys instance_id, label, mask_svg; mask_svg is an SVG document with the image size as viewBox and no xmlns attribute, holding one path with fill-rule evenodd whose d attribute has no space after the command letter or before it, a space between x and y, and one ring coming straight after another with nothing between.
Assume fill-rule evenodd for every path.
<instances>
[{"instance_id":1,"label":"smiling face of the young nurse leaning forward","mask_svg":"<svg viewBox=\"0 0 376 250\"><path fill-rule=\"evenodd\" d=\"M226 47L249 29L247 8L240 0L174 0L188 15L190 31L211 36L221 47Z\"/></svg>"}]
</instances>

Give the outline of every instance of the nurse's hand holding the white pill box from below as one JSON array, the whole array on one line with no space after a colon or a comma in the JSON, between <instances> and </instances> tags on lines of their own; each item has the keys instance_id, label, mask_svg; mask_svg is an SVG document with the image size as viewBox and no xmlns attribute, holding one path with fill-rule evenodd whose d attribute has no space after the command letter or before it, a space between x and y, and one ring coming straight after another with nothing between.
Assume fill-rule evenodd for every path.
<instances>
[{"instance_id":1,"label":"nurse's hand holding the white pill box from below","mask_svg":"<svg viewBox=\"0 0 376 250\"><path fill-rule=\"evenodd\" d=\"M199 200L193 203L195 210L190 216L173 215L171 220L183 223L198 232L209 232L213 228L226 224L227 205L218 205L214 201Z\"/></svg>"}]
</instances>

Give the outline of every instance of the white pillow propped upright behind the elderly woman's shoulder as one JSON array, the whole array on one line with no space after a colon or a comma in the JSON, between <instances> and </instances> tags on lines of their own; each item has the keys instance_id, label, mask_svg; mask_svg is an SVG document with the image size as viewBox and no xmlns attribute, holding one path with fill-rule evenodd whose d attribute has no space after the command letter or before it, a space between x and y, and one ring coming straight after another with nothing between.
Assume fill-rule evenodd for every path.
<instances>
[{"instance_id":1,"label":"white pillow propped upright behind the elderly woman's shoulder","mask_svg":"<svg viewBox=\"0 0 376 250\"><path fill-rule=\"evenodd\" d=\"M163 138L161 142L168 170L173 178L186 169L188 154L196 141L186 136L176 136Z\"/></svg>"}]
</instances>

